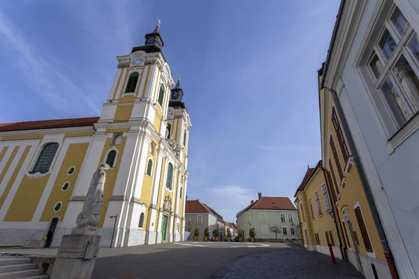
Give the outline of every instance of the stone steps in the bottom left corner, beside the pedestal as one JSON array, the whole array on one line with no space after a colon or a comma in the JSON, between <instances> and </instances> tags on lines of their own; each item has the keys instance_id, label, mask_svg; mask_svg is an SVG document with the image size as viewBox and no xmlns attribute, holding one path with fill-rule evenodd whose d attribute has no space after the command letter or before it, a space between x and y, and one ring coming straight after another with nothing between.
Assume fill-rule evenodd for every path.
<instances>
[{"instance_id":1,"label":"stone steps in the bottom left corner, beside the pedestal","mask_svg":"<svg viewBox=\"0 0 419 279\"><path fill-rule=\"evenodd\" d=\"M50 276L43 275L42 269L36 268L37 264L31 264L27 258L0 258L0 279L48 279Z\"/></svg>"}]
</instances>

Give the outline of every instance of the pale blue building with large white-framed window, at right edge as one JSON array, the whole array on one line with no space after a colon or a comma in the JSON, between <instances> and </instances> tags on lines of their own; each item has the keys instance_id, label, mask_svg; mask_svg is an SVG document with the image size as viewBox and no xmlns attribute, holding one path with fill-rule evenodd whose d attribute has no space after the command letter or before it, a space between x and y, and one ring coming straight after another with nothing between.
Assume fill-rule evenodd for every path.
<instances>
[{"instance_id":1,"label":"pale blue building with large white-framed window, at right edge","mask_svg":"<svg viewBox=\"0 0 419 279\"><path fill-rule=\"evenodd\" d=\"M419 278L419 1L341 1L325 62L400 278Z\"/></svg>"}]
</instances>

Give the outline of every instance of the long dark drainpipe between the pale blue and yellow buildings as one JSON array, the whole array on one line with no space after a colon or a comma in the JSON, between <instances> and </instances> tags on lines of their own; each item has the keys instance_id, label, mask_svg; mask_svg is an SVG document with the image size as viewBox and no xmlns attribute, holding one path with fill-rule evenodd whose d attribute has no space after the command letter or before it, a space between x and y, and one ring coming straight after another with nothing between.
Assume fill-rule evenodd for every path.
<instances>
[{"instance_id":1,"label":"long dark drainpipe between the pale blue and yellow buildings","mask_svg":"<svg viewBox=\"0 0 419 279\"><path fill-rule=\"evenodd\" d=\"M325 73L323 73L323 76L325 76ZM341 103L339 98L337 98L337 93L335 90L330 89L328 87L322 86L321 89L327 89L330 93L332 93L333 100L335 101L337 113L339 114L339 118L341 119L342 126L344 127L344 132L346 134L346 138L348 139L349 148L352 151L353 160L355 162L356 170L358 171L358 174L360 174L360 181L362 184L362 188L364 189L365 197L367 197L367 202L369 205L369 210L372 213L372 218L374 220L374 224L376 225L378 237L381 241L381 246L383 246L385 259L387 260L388 269L390 270L391 278L392 279L398 279L399 274L397 273L396 265L395 265L395 259L392 256L392 253L390 251L390 247L388 246L387 239L385 237L383 225L381 224L380 216L378 216L378 210L376 208L376 204L374 202L374 198L372 197L371 190L369 188L368 181L365 177L364 169L362 167L362 163L360 160L360 157L358 155L358 151L355 147L355 144L353 143L353 137L351 134L351 130L349 130L348 123L346 122L346 117L344 114L344 111L342 110Z\"/></svg>"}]
</instances>

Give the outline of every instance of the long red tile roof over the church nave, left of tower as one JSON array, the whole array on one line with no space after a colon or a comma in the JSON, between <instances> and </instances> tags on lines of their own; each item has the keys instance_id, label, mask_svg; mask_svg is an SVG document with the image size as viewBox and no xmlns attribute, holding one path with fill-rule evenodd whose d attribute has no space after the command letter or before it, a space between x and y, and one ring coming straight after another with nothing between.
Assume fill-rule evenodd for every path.
<instances>
[{"instance_id":1,"label":"long red tile roof over the church nave, left of tower","mask_svg":"<svg viewBox=\"0 0 419 279\"><path fill-rule=\"evenodd\" d=\"M84 117L71 119L52 119L25 121L15 123L0 123L0 132L11 130L32 130L32 129L49 129L49 128L65 128L91 126L99 120L99 117Z\"/></svg>"}]
</instances>

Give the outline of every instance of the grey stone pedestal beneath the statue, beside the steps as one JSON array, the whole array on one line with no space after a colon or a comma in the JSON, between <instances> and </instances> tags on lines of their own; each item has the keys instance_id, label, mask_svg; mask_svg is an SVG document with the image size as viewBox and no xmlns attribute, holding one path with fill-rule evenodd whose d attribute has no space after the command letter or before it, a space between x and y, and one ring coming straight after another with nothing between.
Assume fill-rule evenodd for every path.
<instances>
[{"instance_id":1,"label":"grey stone pedestal beneath the statue, beside the steps","mask_svg":"<svg viewBox=\"0 0 419 279\"><path fill-rule=\"evenodd\" d=\"M66 234L58 248L51 279L91 278L101 236Z\"/></svg>"}]
</instances>

